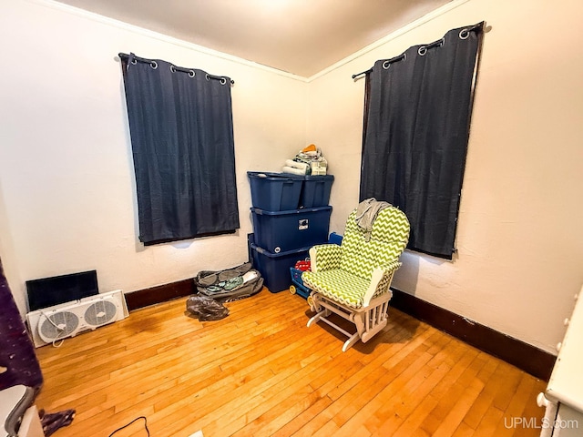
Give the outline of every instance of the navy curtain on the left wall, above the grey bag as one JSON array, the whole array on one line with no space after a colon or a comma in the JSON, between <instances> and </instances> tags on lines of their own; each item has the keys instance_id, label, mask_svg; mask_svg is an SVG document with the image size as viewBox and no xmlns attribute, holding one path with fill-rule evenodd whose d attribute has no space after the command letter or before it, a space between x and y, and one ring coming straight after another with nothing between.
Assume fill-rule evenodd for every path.
<instances>
[{"instance_id":1,"label":"navy curtain on the left wall, above the grey bag","mask_svg":"<svg viewBox=\"0 0 583 437\"><path fill-rule=\"evenodd\" d=\"M239 228L231 81L119 54L145 244Z\"/></svg>"}]
</instances>

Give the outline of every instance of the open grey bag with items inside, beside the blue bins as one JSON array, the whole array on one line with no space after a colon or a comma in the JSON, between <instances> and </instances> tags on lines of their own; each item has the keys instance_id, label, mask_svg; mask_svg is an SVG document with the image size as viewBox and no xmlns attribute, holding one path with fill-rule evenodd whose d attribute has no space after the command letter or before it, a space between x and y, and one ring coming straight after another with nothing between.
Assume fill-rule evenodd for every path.
<instances>
[{"instance_id":1,"label":"open grey bag with items inside, beside the blue bins","mask_svg":"<svg viewBox=\"0 0 583 437\"><path fill-rule=\"evenodd\" d=\"M263 278L258 270L251 269L251 262L246 262L231 269L199 271L194 284L199 295L230 302L249 298L260 292L263 288Z\"/></svg>"}]
</instances>

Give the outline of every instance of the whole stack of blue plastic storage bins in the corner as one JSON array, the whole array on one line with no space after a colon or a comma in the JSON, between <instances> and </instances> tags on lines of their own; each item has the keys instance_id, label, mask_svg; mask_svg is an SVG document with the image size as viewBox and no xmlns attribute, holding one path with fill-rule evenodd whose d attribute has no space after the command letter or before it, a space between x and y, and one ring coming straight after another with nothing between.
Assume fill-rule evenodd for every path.
<instances>
[{"instance_id":1,"label":"whole stack of blue plastic storage bins in the corner","mask_svg":"<svg viewBox=\"0 0 583 437\"><path fill-rule=\"evenodd\" d=\"M313 245L328 239L334 177L254 171L247 176L253 205L251 262L272 293L287 290L292 284L290 268L306 259Z\"/></svg>"}]
</instances>

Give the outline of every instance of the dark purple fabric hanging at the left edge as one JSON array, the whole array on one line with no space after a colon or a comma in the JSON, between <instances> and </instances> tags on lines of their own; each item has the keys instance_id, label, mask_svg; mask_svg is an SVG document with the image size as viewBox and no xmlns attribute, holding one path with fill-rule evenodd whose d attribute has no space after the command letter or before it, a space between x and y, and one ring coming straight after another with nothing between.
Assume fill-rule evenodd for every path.
<instances>
[{"instance_id":1,"label":"dark purple fabric hanging at the left edge","mask_svg":"<svg viewBox=\"0 0 583 437\"><path fill-rule=\"evenodd\" d=\"M36 360L35 348L0 260L0 390L17 384L40 388L42 383L43 374Z\"/></svg>"}]
</instances>

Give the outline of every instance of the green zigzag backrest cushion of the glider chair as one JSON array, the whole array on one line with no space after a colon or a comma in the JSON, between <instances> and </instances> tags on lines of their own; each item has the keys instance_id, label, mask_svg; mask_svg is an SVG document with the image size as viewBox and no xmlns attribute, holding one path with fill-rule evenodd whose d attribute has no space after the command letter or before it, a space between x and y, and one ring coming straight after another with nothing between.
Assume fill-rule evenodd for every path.
<instances>
[{"instance_id":1,"label":"green zigzag backrest cushion of the glider chair","mask_svg":"<svg viewBox=\"0 0 583 437\"><path fill-rule=\"evenodd\" d=\"M355 218L356 209L346 220L340 268L370 279L374 268L399 260L409 240L409 220L399 208L383 208L367 235Z\"/></svg>"}]
</instances>

